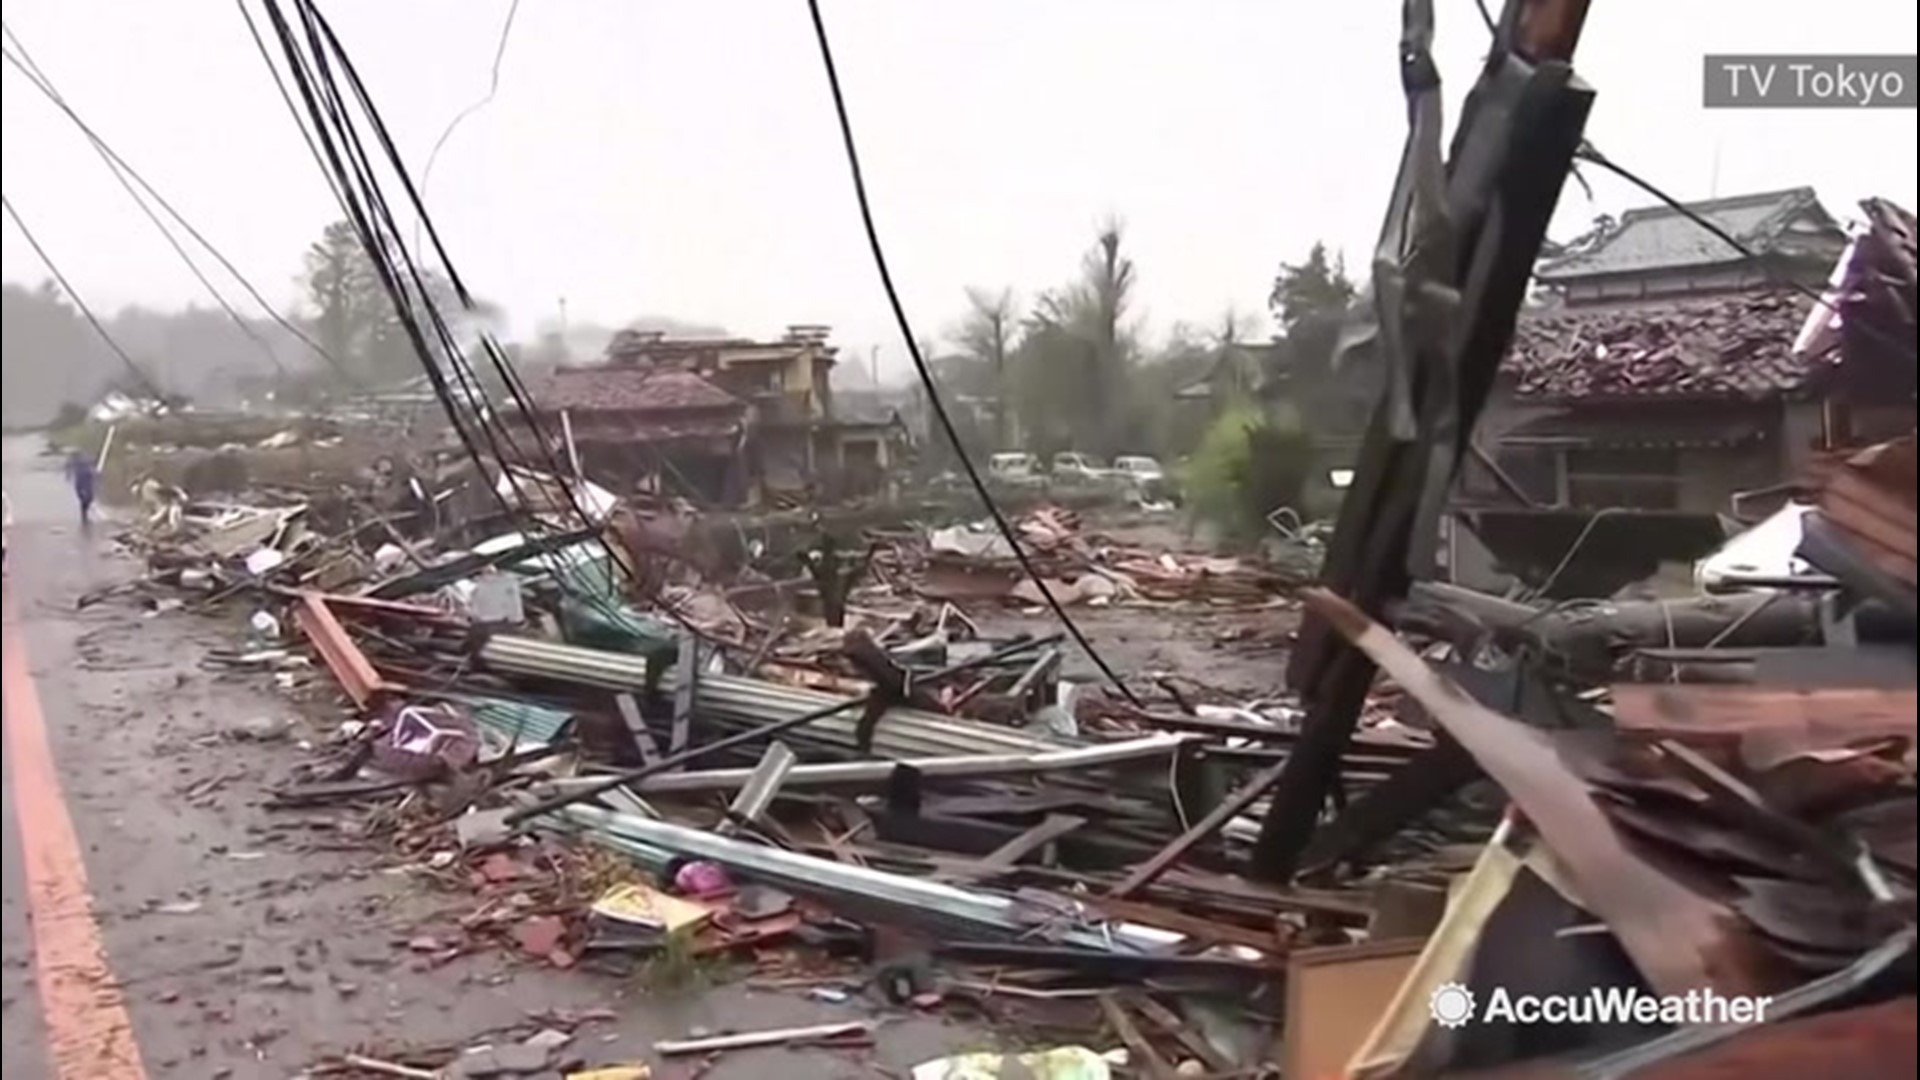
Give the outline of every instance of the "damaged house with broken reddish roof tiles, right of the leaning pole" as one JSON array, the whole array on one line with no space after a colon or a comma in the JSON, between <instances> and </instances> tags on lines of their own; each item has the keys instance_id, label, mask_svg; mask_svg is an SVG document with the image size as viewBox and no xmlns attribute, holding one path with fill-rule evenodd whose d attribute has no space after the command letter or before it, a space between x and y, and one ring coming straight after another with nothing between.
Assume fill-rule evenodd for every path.
<instances>
[{"instance_id":1,"label":"damaged house with broken reddish roof tiles, right of the leaning pole","mask_svg":"<svg viewBox=\"0 0 1920 1080\"><path fill-rule=\"evenodd\" d=\"M1611 565L1565 584L1607 594L1707 553L1720 515L1764 515L1816 459L1912 430L1910 379L1905 394L1862 390L1836 348L1809 338L1849 246L1812 190L1692 209L1745 252L1653 208L1538 269L1548 300L1521 315L1478 432L1484 457L1463 471L1455 580L1567 573L1578 542Z\"/></svg>"}]
</instances>

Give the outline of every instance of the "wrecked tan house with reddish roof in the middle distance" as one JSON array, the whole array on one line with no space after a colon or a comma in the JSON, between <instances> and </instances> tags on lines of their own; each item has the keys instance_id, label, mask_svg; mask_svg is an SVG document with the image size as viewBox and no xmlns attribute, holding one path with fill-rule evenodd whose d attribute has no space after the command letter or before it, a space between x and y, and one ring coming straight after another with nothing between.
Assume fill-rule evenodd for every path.
<instances>
[{"instance_id":1,"label":"wrecked tan house with reddish roof in the middle distance","mask_svg":"<svg viewBox=\"0 0 1920 1080\"><path fill-rule=\"evenodd\" d=\"M843 419L826 327L772 342L622 331L595 365L563 367L534 394L549 430L622 488L708 505L879 494L904 448L899 417Z\"/></svg>"}]
</instances>

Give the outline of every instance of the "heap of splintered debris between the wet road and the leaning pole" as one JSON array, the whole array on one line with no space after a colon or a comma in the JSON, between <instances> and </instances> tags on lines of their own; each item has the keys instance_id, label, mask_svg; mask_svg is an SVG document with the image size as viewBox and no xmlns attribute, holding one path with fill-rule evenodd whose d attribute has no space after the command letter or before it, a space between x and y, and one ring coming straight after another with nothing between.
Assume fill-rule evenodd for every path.
<instances>
[{"instance_id":1,"label":"heap of splintered debris between the wet road and the leaning pole","mask_svg":"<svg viewBox=\"0 0 1920 1080\"><path fill-rule=\"evenodd\" d=\"M1062 676L1064 634L987 638L922 588L943 559L1000 573L1002 553L958 553L941 530L881 536L843 625L804 603L818 578L774 590L787 609L770 617L655 544L643 507L563 530L559 484L516 490L534 492L530 528L465 546L470 532L432 534L438 496L382 513L371 496L242 505L156 488L125 536L150 607L244 619L244 644L213 663L342 709L267 805L340 815L396 872L457 899L447 924L407 934L413 963L505 951L649 986L749 978L881 1017L1039 1013L1046 1030L1108 1032L1071 1059L1085 1074L1110 1047L1215 1074L1261 1059L1290 947L1365 932L1371 882L1269 890L1229 872L1252 807L1181 842L1238 776L1286 757L1296 711L1204 688L1127 703ZM1023 536L1062 578L1116 582L1121 603L1288 603L1254 563L1114 546L1066 511L1027 517ZM1356 746L1356 790L1428 744L1382 721ZM841 1028L657 1055L872 1042L868 1020Z\"/></svg>"}]
</instances>

